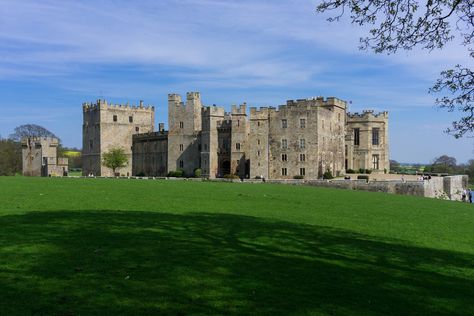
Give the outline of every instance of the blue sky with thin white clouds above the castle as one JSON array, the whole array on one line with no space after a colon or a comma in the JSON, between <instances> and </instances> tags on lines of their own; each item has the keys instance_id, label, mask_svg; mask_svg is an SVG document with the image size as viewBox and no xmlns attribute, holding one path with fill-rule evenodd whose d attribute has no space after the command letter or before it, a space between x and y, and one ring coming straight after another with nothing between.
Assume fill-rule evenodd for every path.
<instances>
[{"instance_id":1,"label":"blue sky with thin white clouds above the castle","mask_svg":"<svg viewBox=\"0 0 474 316\"><path fill-rule=\"evenodd\" d=\"M205 105L278 106L334 96L349 111L389 112L390 158L474 158L474 138L443 132L459 117L428 93L439 72L469 66L442 51L358 50L366 29L329 23L310 0L0 0L0 135L38 124L82 146L82 103L155 106L200 91ZM157 124L156 124L157 125Z\"/></svg>"}]
</instances>

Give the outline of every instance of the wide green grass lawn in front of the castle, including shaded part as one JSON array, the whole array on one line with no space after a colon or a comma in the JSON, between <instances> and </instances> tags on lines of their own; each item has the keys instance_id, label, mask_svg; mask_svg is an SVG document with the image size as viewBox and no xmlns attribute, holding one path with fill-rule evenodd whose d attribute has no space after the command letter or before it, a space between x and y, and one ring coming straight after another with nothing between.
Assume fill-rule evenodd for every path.
<instances>
[{"instance_id":1,"label":"wide green grass lawn in front of the castle, including shaded part","mask_svg":"<svg viewBox=\"0 0 474 316\"><path fill-rule=\"evenodd\" d=\"M474 205L0 177L0 315L474 315Z\"/></svg>"}]
</instances>

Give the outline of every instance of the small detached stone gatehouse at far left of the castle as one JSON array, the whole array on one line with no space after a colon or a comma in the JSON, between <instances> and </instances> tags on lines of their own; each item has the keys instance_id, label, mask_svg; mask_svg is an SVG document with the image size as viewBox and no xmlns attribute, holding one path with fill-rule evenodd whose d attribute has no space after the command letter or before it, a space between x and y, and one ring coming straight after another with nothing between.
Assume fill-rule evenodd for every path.
<instances>
[{"instance_id":1,"label":"small detached stone gatehouse at far left of the castle","mask_svg":"<svg viewBox=\"0 0 474 316\"><path fill-rule=\"evenodd\" d=\"M58 158L59 140L54 137L29 137L21 142L23 175L30 177L63 176L68 159Z\"/></svg>"}]
</instances>

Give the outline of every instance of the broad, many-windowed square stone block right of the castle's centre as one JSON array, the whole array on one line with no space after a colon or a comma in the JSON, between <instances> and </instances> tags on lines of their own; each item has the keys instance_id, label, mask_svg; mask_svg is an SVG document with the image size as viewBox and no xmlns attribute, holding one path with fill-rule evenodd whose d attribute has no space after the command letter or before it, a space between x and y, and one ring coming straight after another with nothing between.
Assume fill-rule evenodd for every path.
<instances>
[{"instance_id":1,"label":"broad, many-windowed square stone block right of the castle's centre","mask_svg":"<svg viewBox=\"0 0 474 316\"><path fill-rule=\"evenodd\" d=\"M344 173L346 102L322 97L250 110L250 177L320 178Z\"/></svg>"}]
</instances>

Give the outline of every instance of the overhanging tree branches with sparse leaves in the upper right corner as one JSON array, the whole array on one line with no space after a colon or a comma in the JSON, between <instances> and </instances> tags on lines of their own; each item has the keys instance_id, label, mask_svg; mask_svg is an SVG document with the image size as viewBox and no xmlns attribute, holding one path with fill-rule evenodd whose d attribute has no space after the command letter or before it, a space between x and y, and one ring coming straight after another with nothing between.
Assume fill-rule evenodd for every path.
<instances>
[{"instance_id":1,"label":"overhanging tree branches with sparse leaves in the upper right corner","mask_svg":"<svg viewBox=\"0 0 474 316\"><path fill-rule=\"evenodd\" d=\"M474 58L474 6L466 0L336 0L320 1L317 12L337 11L328 21L339 21L346 12L358 26L369 25L369 35L360 39L360 49L396 53L415 47L441 49L457 34L466 53ZM440 108L461 112L461 118L446 132L456 138L474 131L474 72L455 65L444 70L430 89L441 93Z\"/></svg>"}]
</instances>

